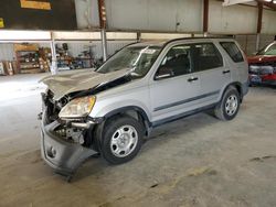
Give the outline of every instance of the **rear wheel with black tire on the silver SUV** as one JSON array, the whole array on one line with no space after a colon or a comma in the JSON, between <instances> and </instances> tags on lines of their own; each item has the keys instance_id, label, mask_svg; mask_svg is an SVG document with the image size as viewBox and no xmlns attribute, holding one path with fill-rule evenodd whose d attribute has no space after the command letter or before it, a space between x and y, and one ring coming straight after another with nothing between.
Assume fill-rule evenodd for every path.
<instances>
[{"instance_id":1,"label":"rear wheel with black tire on the silver SUV","mask_svg":"<svg viewBox=\"0 0 276 207\"><path fill-rule=\"evenodd\" d=\"M229 106L227 100L230 100L230 99L235 100L234 97L236 99L236 106L235 107L233 106L233 110L230 110L227 108L227 106ZM237 89L234 86L230 86L224 91L222 100L220 101L220 103L215 107L214 115L215 115L216 118L219 118L219 119L221 119L223 121L232 120L232 119L234 119L236 117L236 115L238 112L240 103L241 103L241 96L240 96ZM234 110L234 108L235 108L235 110Z\"/></svg>"}]
</instances>

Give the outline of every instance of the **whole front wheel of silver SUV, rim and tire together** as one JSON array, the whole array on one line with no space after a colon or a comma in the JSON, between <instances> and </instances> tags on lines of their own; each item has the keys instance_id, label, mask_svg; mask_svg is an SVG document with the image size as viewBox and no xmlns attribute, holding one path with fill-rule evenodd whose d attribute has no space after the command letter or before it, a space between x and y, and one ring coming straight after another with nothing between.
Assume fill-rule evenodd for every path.
<instances>
[{"instance_id":1,"label":"whole front wheel of silver SUV, rim and tire together","mask_svg":"<svg viewBox=\"0 0 276 207\"><path fill-rule=\"evenodd\" d=\"M144 128L131 117L107 121L102 141L103 157L110 164L121 164L134 159L142 143Z\"/></svg>"}]
</instances>

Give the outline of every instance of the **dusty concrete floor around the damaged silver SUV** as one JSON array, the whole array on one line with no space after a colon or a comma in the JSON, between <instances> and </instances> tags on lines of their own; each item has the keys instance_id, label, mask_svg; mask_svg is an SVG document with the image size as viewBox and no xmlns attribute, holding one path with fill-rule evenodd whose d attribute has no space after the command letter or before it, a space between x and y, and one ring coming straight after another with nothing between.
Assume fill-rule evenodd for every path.
<instances>
[{"instance_id":1,"label":"dusty concrete floor around the damaged silver SUV","mask_svg":"<svg viewBox=\"0 0 276 207\"><path fill-rule=\"evenodd\" d=\"M0 77L0 206L276 206L276 89L251 88L231 122L163 126L131 162L91 159L66 183L40 157L41 76Z\"/></svg>"}]
</instances>

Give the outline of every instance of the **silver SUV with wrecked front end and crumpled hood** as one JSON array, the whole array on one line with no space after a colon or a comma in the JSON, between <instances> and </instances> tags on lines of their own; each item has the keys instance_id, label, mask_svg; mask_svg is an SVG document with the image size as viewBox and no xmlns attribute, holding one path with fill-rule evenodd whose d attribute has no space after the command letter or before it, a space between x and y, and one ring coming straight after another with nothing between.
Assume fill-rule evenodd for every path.
<instances>
[{"instance_id":1,"label":"silver SUV with wrecked front end and crumpled hood","mask_svg":"<svg viewBox=\"0 0 276 207\"><path fill-rule=\"evenodd\" d=\"M232 120L248 90L247 68L231 39L178 39L128 45L95 72L46 77L42 156L71 175L95 153L112 164L134 159L166 122L210 109Z\"/></svg>"}]
</instances>

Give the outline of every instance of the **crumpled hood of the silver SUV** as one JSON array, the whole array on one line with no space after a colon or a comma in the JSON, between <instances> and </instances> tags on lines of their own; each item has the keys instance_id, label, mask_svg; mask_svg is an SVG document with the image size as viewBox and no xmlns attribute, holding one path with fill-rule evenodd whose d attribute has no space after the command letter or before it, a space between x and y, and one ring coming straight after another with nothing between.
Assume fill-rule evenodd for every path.
<instances>
[{"instance_id":1,"label":"crumpled hood of the silver SUV","mask_svg":"<svg viewBox=\"0 0 276 207\"><path fill-rule=\"evenodd\" d=\"M120 78L129 73L129 69L120 69L107 74L100 74L93 70L68 72L61 75L44 77L40 83L45 84L54 92L54 99L59 100L63 96L93 88L99 84L106 84Z\"/></svg>"}]
</instances>

